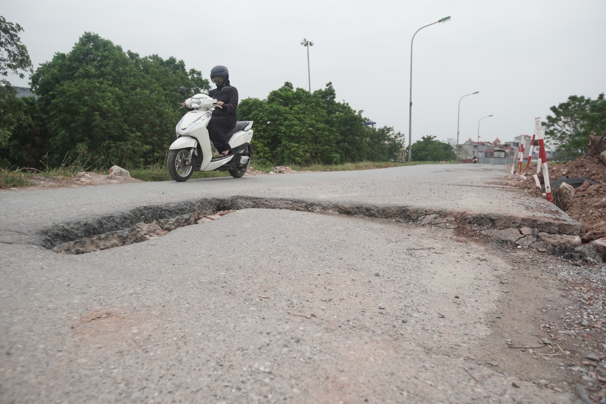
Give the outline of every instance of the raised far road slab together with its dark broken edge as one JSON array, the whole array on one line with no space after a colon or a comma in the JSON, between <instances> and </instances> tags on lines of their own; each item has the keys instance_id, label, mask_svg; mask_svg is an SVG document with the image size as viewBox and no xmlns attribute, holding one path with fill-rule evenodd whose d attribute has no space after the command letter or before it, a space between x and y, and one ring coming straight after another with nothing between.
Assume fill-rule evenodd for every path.
<instances>
[{"instance_id":1,"label":"raised far road slab together with its dark broken edge","mask_svg":"<svg viewBox=\"0 0 606 404\"><path fill-rule=\"evenodd\" d=\"M436 214L440 220L456 217L484 228L527 226L547 233L578 234L581 225L554 205L499 185L496 181L504 174L502 166L441 164L240 179L220 177L184 183L141 182L4 191L0 192L3 229L0 242L41 244L42 230L52 232L59 225L74 220L79 221L76 227L88 228L93 233L118 230L134 223L118 223L124 220L116 216L133 212L138 207L221 198L227 208L236 209L300 209L301 204L308 204L305 210L339 211L339 208L349 207L341 213L401 217L411 223L431 221L432 217L427 219L426 216ZM293 207L293 200L299 207ZM377 209L384 212L373 212ZM92 223L93 219L97 223ZM61 238L61 235L57 237Z\"/></svg>"}]
</instances>

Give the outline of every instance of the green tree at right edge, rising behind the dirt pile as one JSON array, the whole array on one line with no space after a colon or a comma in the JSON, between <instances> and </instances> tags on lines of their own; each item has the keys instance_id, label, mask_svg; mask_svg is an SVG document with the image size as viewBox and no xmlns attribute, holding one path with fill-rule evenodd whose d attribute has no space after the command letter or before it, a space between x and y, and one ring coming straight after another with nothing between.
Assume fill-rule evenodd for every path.
<instances>
[{"instance_id":1,"label":"green tree at right edge, rising behind the dirt pile","mask_svg":"<svg viewBox=\"0 0 606 404\"><path fill-rule=\"evenodd\" d=\"M598 98L570 96L566 102L550 108L545 131L547 140L555 147L559 159L571 160L588 150L588 136L591 131L606 131L606 99L604 93Z\"/></svg>"}]
</instances>

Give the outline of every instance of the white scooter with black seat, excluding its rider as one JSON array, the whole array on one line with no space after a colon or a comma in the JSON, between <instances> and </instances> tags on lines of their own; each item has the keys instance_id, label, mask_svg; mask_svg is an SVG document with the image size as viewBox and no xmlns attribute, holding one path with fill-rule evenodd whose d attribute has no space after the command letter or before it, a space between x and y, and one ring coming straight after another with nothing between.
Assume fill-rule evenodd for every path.
<instances>
[{"instance_id":1,"label":"white scooter with black seat, excluding its rider","mask_svg":"<svg viewBox=\"0 0 606 404\"><path fill-rule=\"evenodd\" d=\"M223 87L221 93L231 93L231 87ZM185 87L179 92L187 96ZM177 140L170 145L167 167L168 173L175 181L187 181L193 171L229 171L232 177L239 178L246 173L253 147L253 121L240 121L227 134L231 153L225 157L213 158L213 148L208 137L207 125L217 100L206 94L196 94L185 100L185 107L193 108L181 118L176 126Z\"/></svg>"}]
</instances>

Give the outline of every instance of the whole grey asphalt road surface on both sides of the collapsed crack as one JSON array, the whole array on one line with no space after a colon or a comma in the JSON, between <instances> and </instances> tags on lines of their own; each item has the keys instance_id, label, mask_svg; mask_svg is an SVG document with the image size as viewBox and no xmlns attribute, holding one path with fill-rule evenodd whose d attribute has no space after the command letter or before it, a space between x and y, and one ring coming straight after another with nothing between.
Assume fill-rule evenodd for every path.
<instances>
[{"instance_id":1,"label":"whole grey asphalt road surface on both sides of the collapsed crack","mask_svg":"<svg viewBox=\"0 0 606 404\"><path fill-rule=\"evenodd\" d=\"M62 222L238 194L545 217L491 185L501 174L419 165L2 192L0 402L571 402L529 382L550 377L545 361L494 342L512 268L452 230L244 209L96 253L35 245ZM536 339L511 313L507 332Z\"/></svg>"}]
</instances>

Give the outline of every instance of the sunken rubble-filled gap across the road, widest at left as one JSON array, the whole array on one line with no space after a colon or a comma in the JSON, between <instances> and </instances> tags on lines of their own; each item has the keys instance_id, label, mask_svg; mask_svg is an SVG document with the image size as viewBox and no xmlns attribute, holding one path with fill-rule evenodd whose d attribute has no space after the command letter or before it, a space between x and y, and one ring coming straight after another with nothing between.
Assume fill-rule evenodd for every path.
<instances>
[{"instance_id":1,"label":"sunken rubble-filled gap across the road, widest at left","mask_svg":"<svg viewBox=\"0 0 606 404\"><path fill-rule=\"evenodd\" d=\"M43 228L38 234L38 240L42 247L57 253L90 253L142 241L145 239L145 234L150 231L159 229L171 231L196 224L201 217L215 211L246 208L286 209L393 219L396 222L450 229L465 227L474 232L511 227L536 228L552 234L579 234L581 231L581 224L561 217L520 217L514 214L478 214L473 211L447 211L401 205L233 196L149 205L123 213L55 224Z\"/></svg>"}]
</instances>

